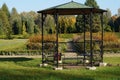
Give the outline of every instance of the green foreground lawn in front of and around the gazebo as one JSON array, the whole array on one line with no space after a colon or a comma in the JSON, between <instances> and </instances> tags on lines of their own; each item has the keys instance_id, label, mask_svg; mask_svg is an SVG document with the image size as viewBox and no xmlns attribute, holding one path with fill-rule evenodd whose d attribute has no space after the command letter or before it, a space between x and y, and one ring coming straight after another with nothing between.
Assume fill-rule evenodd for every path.
<instances>
[{"instance_id":1,"label":"green foreground lawn in front of and around the gazebo","mask_svg":"<svg viewBox=\"0 0 120 80\"><path fill-rule=\"evenodd\" d=\"M39 58L0 58L0 80L119 80L120 67L99 67L95 71L64 69L54 71L51 67L40 68ZM116 57L106 57L106 62L120 62Z\"/></svg>"}]
</instances>

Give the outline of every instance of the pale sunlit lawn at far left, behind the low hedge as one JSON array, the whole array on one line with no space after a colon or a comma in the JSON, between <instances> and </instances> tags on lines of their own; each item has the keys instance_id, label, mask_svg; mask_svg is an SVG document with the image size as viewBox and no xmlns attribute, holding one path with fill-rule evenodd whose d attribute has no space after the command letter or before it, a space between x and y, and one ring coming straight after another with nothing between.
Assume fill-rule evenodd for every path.
<instances>
[{"instance_id":1,"label":"pale sunlit lawn at far left, behind the low hedge","mask_svg":"<svg viewBox=\"0 0 120 80\"><path fill-rule=\"evenodd\" d=\"M27 39L13 39L13 40L4 40L0 39L0 50L19 50L25 49L25 43Z\"/></svg>"}]
</instances>

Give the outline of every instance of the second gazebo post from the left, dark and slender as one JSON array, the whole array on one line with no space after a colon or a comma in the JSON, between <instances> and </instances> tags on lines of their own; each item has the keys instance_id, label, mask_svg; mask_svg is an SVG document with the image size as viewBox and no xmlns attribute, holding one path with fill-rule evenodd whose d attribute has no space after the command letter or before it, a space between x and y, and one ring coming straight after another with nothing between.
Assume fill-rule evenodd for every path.
<instances>
[{"instance_id":1,"label":"second gazebo post from the left, dark and slender","mask_svg":"<svg viewBox=\"0 0 120 80\"><path fill-rule=\"evenodd\" d=\"M56 67L58 68L59 67L59 52L58 52L58 32L59 32L59 28L58 28L58 13L55 13L54 14L54 20L55 20L55 24L56 24L56 50L55 50L55 52L56 52L56 54L57 54L57 63L56 63Z\"/></svg>"}]
</instances>

